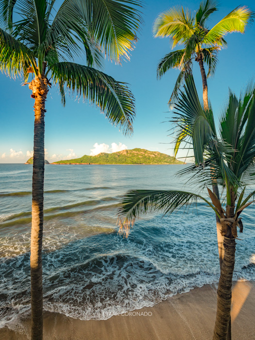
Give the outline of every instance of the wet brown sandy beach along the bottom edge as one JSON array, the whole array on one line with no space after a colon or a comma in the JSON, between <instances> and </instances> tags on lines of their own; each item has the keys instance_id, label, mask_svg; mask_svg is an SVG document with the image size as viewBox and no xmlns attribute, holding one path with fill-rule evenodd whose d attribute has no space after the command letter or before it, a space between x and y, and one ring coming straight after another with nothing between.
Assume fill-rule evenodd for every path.
<instances>
[{"instance_id":1,"label":"wet brown sandy beach along the bottom edge","mask_svg":"<svg viewBox=\"0 0 255 340\"><path fill-rule=\"evenodd\" d=\"M44 339L51 340L209 340L216 313L216 285L177 294L132 315L82 321L59 313L44 313ZM137 313L140 313L139 314ZM143 316L141 314L148 313ZM232 339L255 339L255 282L233 284ZM15 330L0 330L0 339L28 339L30 321Z\"/></svg>"}]
</instances>

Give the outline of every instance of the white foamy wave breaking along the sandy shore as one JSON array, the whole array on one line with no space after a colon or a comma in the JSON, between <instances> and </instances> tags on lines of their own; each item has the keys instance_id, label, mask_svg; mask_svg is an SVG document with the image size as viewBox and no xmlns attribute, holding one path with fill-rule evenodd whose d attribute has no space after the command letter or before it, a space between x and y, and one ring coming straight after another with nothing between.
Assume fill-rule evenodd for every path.
<instances>
[{"instance_id":1,"label":"white foamy wave breaking along the sandy shore","mask_svg":"<svg viewBox=\"0 0 255 340\"><path fill-rule=\"evenodd\" d=\"M44 309L81 320L106 320L114 313L154 306L167 297L219 280L219 273L208 271L194 271L187 275L182 271L179 274L165 273L149 260L120 252L87 258L64 268L54 263L57 260L54 254L47 257L44 258ZM28 268L22 266L22 270L13 275L13 269L28 260L29 254L25 254L5 264L11 266L9 274L12 273L21 284L10 291L13 286L4 275L0 327L15 323L30 313ZM250 263L235 272L234 280L238 278L255 280L255 264Z\"/></svg>"}]
</instances>

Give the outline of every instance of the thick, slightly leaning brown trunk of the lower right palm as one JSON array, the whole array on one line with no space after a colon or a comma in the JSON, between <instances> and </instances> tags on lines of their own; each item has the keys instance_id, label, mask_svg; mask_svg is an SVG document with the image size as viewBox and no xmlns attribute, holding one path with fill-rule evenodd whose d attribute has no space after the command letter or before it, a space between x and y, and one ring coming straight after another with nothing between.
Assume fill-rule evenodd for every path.
<instances>
[{"instance_id":1,"label":"thick, slightly leaning brown trunk of the lower right palm","mask_svg":"<svg viewBox=\"0 0 255 340\"><path fill-rule=\"evenodd\" d=\"M221 266L221 276L217 290L217 315L213 340L226 340L232 298L232 276L235 266L235 238L224 238L225 254Z\"/></svg>"}]
</instances>

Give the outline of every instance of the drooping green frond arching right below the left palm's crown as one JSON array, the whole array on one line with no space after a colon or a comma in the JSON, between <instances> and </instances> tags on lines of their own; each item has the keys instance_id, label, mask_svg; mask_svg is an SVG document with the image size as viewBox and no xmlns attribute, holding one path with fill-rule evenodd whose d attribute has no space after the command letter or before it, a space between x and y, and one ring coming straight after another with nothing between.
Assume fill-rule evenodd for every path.
<instances>
[{"instance_id":1,"label":"drooping green frond arching right below the left palm's crown","mask_svg":"<svg viewBox=\"0 0 255 340\"><path fill-rule=\"evenodd\" d=\"M83 65L62 62L51 66L53 83L65 87L98 106L105 117L119 126L126 135L133 133L135 101L125 83L120 83L105 73Z\"/></svg>"}]
</instances>

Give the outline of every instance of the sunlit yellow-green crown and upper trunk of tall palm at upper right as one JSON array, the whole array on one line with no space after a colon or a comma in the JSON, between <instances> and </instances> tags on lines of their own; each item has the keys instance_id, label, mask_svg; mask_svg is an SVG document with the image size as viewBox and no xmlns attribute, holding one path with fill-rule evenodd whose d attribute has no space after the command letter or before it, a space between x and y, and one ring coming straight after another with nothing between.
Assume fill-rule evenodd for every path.
<instances>
[{"instance_id":1,"label":"sunlit yellow-green crown and upper trunk of tall palm at upper right","mask_svg":"<svg viewBox=\"0 0 255 340\"><path fill-rule=\"evenodd\" d=\"M209 30L208 19L213 12L218 10L217 6L217 0L203 0L195 14L187 8L172 7L161 13L154 22L155 37L170 37L172 49L177 45L184 45L182 50L166 54L157 67L159 79L170 68L181 70L169 103L177 98L178 90L192 70L193 60L195 60L200 66L204 106L207 107L207 78L215 72L218 52L222 47L227 46L224 35L232 32L244 33L245 28L252 21L253 12L246 6L239 6ZM204 64L208 66L207 75Z\"/></svg>"}]
</instances>

